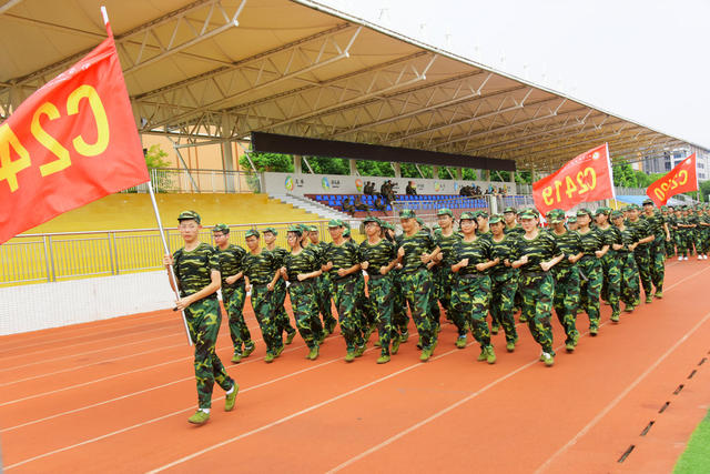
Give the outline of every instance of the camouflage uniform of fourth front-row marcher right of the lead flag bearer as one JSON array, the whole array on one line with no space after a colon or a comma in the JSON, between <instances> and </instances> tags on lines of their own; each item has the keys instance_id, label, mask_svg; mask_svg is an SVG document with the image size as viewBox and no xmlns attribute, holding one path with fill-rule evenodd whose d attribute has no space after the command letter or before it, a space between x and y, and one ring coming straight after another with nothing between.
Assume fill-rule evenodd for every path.
<instances>
[{"instance_id":1,"label":"camouflage uniform of fourth front-row marcher right of the lead flag bearer","mask_svg":"<svg viewBox=\"0 0 710 474\"><path fill-rule=\"evenodd\" d=\"M365 345L363 339L363 327L361 327L361 316L357 310L357 275L351 273L339 276L339 269L349 269L359 263L357 256L357 245L352 241L344 241L341 245L329 243L324 253L326 262L333 262L333 268L328 274L333 282L333 295L335 307L341 322L341 332L345 337L347 351L355 351Z\"/></svg>"}]
</instances>

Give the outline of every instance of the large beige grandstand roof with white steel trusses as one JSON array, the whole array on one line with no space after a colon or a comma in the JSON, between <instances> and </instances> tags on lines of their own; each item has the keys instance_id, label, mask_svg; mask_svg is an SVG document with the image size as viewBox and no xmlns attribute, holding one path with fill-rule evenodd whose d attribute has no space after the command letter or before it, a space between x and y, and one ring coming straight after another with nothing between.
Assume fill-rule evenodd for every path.
<instances>
[{"instance_id":1,"label":"large beige grandstand roof with white steel trusses","mask_svg":"<svg viewBox=\"0 0 710 474\"><path fill-rule=\"evenodd\" d=\"M102 3L143 133L263 131L511 159L539 171L602 142L627 160L682 144L310 0L7 0L2 118L103 40Z\"/></svg>"}]
</instances>

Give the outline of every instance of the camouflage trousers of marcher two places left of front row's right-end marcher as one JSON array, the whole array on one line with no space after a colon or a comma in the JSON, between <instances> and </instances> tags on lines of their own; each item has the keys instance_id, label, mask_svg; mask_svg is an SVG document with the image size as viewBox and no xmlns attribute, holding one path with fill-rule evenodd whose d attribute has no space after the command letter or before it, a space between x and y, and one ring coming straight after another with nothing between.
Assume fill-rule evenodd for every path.
<instances>
[{"instance_id":1,"label":"camouflage trousers of marcher two places left of front row's right-end marcher","mask_svg":"<svg viewBox=\"0 0 710 474\"><path fill-rule=\"evenodd\" d=\"M486 322L490 302L490 278L483 274L454 276L452 304L456 319L468 323L481 349L490 345L490 330ZM456 324L458 326L458 324Z\"/></svg>"}]
</instances>

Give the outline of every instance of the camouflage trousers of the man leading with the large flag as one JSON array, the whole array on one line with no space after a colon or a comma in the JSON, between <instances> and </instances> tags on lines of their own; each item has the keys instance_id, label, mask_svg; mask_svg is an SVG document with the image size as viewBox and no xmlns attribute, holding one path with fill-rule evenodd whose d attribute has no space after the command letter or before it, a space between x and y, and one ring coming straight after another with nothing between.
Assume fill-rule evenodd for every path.
<instances>
[{"instance_id":1,"label":"camouflage trousers of the man leading with the large flag","mask_svg":"<svg viewBox=\"0 0 710 474\"><path fill-rule=\"evenodd\" d=\"M216 382L225 391L232 389L234 380L226 373L222 361L214 352L222 313L216 297L205 297L185 307L190 337L195 345L195 381L200 409L212 406L212 390Z\"/></svg>"}]
</instances>

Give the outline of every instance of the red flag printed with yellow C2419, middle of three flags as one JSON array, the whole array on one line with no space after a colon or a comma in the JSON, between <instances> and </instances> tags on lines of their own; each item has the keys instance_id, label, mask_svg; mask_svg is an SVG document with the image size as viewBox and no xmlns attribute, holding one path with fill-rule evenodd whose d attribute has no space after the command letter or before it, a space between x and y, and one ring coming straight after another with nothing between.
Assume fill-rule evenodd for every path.
<instances>
[{"instance_id":1,"label":"red flag printed with yellow C2419, middle of three flags","mask_svg":"<svg viewBox=\"0 0 710 474\"><path fill-rule=\"evenodd\" d=\"M581 202L613 198L609 147L586 151L549 177L532 183L535 206L542 214L552 209L567 211Z\"/></svg>"}]
</instances>

